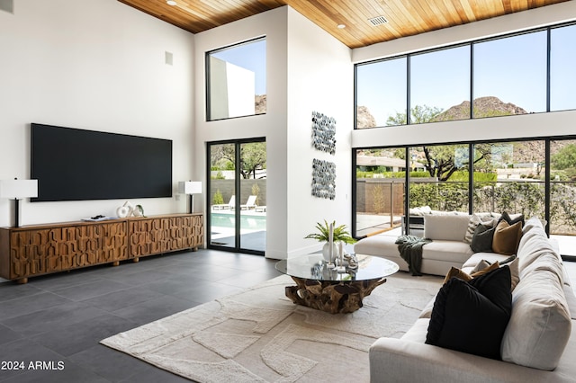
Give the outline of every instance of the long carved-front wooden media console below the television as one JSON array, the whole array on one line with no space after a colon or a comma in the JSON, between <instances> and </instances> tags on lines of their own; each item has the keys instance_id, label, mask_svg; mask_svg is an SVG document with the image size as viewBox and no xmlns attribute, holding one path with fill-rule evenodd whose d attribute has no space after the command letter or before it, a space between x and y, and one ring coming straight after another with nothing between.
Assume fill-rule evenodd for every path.
<instances>
[{"instance_id":1,"label":"long carved-front wooden media console below the television","mask_svg":"<svg viewBox=\"0 0 576 383\"><path fill-rule=\"evenodd\" d=\"M0 277L29 277L139 257L198 250L202 213L0 227Z\"/></svg>"}]
</instances>

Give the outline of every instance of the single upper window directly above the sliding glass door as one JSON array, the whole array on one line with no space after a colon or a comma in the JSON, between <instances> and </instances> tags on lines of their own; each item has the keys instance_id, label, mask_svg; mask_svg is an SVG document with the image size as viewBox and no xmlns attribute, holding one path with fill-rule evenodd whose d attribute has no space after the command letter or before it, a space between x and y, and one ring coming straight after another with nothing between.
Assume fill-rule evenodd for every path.
<instances>
[{"instance_id":1,"label":"single upper window directly above the sliding glass door","mask_svg":"<svg viewBox=\"0 0 576 383\"><path fill-rule=\"evenodd\" d=\"M266 113L266 39L206 54L206 118Z\"/></svg>"}]
</instances>

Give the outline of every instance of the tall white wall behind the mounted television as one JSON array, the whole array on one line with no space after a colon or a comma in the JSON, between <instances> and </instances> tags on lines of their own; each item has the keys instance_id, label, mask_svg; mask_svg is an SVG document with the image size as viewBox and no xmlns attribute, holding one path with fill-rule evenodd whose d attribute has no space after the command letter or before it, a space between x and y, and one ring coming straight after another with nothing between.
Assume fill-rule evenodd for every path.
<instances>
[{"instance_id":1,"label":"tall white wall behind the mounted television","mask_svg":"<svg viewBox=\"0 0 576 383\"><path fill-rule=\"evenodd\" d=\"M0 12L0 179L30 177L31 122L172 139L174 190L192 178L193 34L116 0L14 8ZM176 197L132 202L150 215L185 211ZM112 216L123 202L23 200L21 223ZM13 205L0 200L0 226L14 224Z\"/></svg>"}]
</instances>

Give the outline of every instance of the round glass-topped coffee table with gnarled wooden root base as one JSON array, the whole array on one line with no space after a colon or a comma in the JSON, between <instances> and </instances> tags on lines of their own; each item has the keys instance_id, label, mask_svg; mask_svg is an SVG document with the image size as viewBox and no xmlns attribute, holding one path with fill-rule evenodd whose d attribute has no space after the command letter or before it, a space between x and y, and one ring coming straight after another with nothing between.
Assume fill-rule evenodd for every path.
<instances>
[{"instance_id":1,"label":"round glass-topped coffee table with gnarled wooden root base","mask_svg":"<svg viewBox=\"0 0 576 383\"><path fill-rule=\"evenodd\" d=\"M340 271L329 268L322 254L292 257L275 267L296 282L296 286L286 286L286 297L294 303L330 314L352 313L387 276L399 270L398 264L387 259L360 254L355 258L356 268L346 266Z\"/></svg>"}]
</instances>

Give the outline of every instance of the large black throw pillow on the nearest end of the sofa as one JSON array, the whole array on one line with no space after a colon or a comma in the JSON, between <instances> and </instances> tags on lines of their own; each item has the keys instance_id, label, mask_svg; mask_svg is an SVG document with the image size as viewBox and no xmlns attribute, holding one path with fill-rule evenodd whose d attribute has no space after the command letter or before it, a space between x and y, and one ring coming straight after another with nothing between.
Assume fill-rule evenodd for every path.
<instances>
[{"instance_id":1,"label":"large black throw pillow on the nearest end of the sofa","mask_svg":"<svg viewBox=\"0 0 576 383\"><path fill-rule=\"evenodd\" d=\"M500 360L512 313L510 284L508 265L472 281L446 282L432 309L426 343Z\"/></svg>"}]
</instances>

